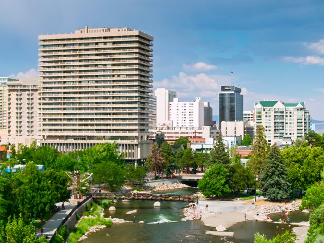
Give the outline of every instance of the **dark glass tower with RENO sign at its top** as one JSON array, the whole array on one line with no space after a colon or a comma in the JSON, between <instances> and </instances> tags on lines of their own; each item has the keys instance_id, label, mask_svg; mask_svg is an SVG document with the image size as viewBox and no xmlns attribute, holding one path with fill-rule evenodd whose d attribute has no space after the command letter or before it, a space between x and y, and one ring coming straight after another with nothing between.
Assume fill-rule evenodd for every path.
<instances>
[{"instance_id":1,"label":"dark glass tower with RENO sign at its top","mask_svg":"<svg viewBox=\"0 0 324 243\"><path fill-rule=\"evenodd\" d=\"M219 127L222 121L243 120L243 96L235 86L222 86L219 93Z\"/></svg>"}]
</instances>

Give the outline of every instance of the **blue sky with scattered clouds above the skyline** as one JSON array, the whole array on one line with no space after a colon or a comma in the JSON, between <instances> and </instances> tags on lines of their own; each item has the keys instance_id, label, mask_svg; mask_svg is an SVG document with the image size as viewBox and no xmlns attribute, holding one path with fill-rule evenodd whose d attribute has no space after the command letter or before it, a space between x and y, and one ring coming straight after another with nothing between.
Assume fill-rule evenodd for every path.
<instances>
[{"instance_id":1,"label":"blue sky with scattered clouds above the skyline","mask_svg":"<svg viewBox=\"0 0 324 243\"><path fill-rule=\"evenodd\" d=\"M244 110L304 101L324 120L322 0L2 0L0 9L0 76L37 76L40 34L128 27L154 37L154 89L201 97L217 115L221 86L232 84Z\"/></svg>"}]
</instances>

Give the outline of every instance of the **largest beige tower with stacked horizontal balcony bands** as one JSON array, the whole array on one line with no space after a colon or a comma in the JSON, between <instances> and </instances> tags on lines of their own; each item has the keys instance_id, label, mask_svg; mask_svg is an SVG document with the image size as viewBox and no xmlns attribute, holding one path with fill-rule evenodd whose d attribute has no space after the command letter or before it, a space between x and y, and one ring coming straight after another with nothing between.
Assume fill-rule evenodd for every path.
<instances>
[{"instance_id":1,"label":"largest beige tower with stacked horizontal balcony bands","mask_svg":"<svg viewBox=\"0 0 324 243\"><path fill-rule=\"evenodd\" d=\"M150 152L153 37L129 28L39 35L40 145L116 141L129 161Z\"/></svg>"}]
</instances>

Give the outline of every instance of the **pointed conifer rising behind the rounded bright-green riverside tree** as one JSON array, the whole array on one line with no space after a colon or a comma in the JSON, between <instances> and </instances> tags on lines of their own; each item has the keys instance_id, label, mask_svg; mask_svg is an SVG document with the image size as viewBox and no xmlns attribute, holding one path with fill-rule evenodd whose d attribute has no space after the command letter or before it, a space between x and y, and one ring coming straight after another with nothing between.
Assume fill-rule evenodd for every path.
<instances>
[{"instance_id":1,"label":"pointed conifer rising behind the rounded bright-green riverside tree","mask_svg":"<svg viewBox=\"0 0 324 243\"><path fill-rule=\"evenodd\" d=\"M222 165L228 169L229 164L231 163L229 153L224 144L224 139L219 135L216 138L216 143L214 148L211 150L211 163L216 165Z\"/></svg>"}]
</instances>

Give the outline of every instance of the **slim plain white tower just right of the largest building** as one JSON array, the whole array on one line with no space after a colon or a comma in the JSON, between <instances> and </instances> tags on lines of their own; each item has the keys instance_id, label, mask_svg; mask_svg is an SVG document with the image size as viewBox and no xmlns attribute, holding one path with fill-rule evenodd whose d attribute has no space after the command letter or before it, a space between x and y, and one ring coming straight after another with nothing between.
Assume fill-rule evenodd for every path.
<instances>
[{"instance_id":1,"label":"slim plain white tower just right of the largest building","mask_svg":"<svg viewBox=\"0 0 324 243\"><path fill-rule=\"evenodd\" d=\"M158 88L155 90L156 96L156 126L167 127L170 125L169 103L177 97L177 92Z\"/></svg>"}]
</instances>

